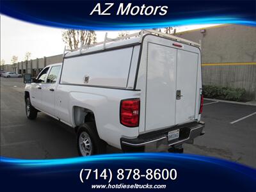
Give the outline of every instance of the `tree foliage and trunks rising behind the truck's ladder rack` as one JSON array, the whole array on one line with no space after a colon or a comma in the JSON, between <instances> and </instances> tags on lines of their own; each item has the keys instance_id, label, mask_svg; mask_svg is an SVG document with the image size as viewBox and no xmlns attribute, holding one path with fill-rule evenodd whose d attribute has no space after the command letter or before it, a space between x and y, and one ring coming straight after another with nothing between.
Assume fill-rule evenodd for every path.
<instances>
[{"instance_id":1,"label":"tree foliage and trunks rising behind the truck's ladder rack","mask_svg":"<svg viewBox=\"0 0 256 192\"><path fill-rule=\"evenodd\" d=\"M68 49L77 49L83 45L92 45L97 42L95 31L67 29L62 31L62 40L68 46Z\"/></svg>"}]
</instances>

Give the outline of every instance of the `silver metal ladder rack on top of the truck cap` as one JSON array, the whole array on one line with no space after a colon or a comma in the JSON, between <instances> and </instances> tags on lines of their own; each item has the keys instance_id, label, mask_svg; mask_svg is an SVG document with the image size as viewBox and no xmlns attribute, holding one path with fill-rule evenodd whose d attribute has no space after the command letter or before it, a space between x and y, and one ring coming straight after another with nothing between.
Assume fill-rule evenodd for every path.
<instances>
[{"instance_id":1,"label":"silver metal ladder rack on top of the truck cap","mask_svg":"<svg viewBox=\"0 0 256 192\"><path fill-rule=\"evenodd\" d=\"M156 31L156 30L153 30L153 29L144 29L144 30L141 30L138 33L132 33L131 35L120 36L120 37L117 37L117 38L108 38L108 33L106 33L103 42L99 42L99 43L92 44L92 45L83 45L83 42L82 42L81 47L79 47L77 49L70 50L70 49L66 49L66 46L65 46L64 51L63 51L63 57L65 56L66 52L80 51L80 54L81 54L83 49L88 49L89 47L94 47L96 45L103 45L102 49L104 50L106 48L106 44L108 44L110 42L125 40L125 39L129 39L129 38L132 38L132 37L139 37L140 36L140 42L141 42L142 37L145 34L155 34L157 36L162 36L164 38L168 38L170 40L175 40L175 41L183 43L183 44L193 45L193 46L199 47L201 49L200 42L198 44L196 42L192 42L192 41L186 40L184 38L180 38L179 36L169 35L169 34L162 33L160 31Z\"/></svg>"}]
</instances>

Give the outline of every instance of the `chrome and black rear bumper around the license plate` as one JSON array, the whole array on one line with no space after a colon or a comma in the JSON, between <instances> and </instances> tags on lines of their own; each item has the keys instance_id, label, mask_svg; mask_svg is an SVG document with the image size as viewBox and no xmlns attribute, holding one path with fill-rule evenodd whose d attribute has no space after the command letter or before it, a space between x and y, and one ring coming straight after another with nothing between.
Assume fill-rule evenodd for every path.
<instances>
[{"instance_id":1,"label":"chrome and black rear bumper around the license plate","mask_svg":"<svg viewBox=\"0 0 256 192\"><path fill-rule=\"evenodd\" d=\"M177 125L168 129L141 134L138 138L121 138L120 143L122 150L126 152L162 151L163 148L170 148L186 143L204 134L204 126L204 122L191 122L189 124ZM177 129L180 130L179 138L168 141L168 132Z\"/></svg>"}]
</instances>

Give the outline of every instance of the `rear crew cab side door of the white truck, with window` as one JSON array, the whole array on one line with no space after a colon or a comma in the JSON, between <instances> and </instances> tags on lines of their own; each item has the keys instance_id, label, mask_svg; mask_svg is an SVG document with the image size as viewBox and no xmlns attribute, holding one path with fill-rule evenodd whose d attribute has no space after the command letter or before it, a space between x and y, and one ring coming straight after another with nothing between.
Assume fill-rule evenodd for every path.
<instances>
[{"instance_id":1,"label":"rear crew cab side door of the white truck, with window","mask_svg":"<svg viewBox=\"0 0 256 192\"><path fill-rule=\"evenodd\" d=\"M56 81L60 74L61 65L52 66L49 70L47 79L42 86L42 104L41 109L49 115L56 116L54 108L54 96L56 90Z\"/></svg>"}]
</instances>

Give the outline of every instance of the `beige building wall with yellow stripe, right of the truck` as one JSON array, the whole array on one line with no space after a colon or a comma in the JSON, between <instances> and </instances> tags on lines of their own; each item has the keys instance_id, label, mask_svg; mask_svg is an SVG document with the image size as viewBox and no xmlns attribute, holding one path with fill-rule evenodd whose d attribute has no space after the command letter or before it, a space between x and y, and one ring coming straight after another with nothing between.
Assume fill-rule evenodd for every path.
<instances>
[{"instance_id":1,"label":"beige building wall with yellow stripe, right of the truck","mask_svg":"<svg viewBox=\"0 0 256 192\"><path fill-rule=\"evenodd\" d=\"M177 36L202 42L203 84L244 88L246 99L256 100L256 28L225 25Z\"/></svg>"}]
</instances>

